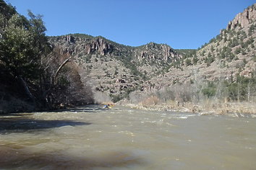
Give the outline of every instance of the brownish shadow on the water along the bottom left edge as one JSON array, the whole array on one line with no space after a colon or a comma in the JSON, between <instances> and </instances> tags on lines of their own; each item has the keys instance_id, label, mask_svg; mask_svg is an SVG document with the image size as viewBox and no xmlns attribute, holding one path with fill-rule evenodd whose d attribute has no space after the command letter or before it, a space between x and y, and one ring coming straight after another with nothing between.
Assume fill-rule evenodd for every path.
<instances>
[{"instance_id":1,"label":"brownish shadow on the water along the bottom left edge","mask_svg":"<svg viewBox=\"0 0 256 170\"><path fill-rule=\"evenodd\" d=\"M145 159L127 151L111 151L108 153L90 156L78 154L70 156L62 152L31 153L17 151L0 146L0 169L94 169L114 167L134 167L145 164Z\"/></svg>"}]
</instances>

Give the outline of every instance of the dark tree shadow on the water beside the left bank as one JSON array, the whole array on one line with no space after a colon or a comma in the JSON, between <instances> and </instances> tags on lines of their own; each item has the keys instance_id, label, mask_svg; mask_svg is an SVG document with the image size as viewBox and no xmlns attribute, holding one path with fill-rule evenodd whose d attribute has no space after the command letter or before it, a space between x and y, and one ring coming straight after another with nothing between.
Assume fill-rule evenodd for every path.
<instances>
[{"instance_id":1,"label":"dark tree shadow on the water beside the left bank","mask_svg":"<svg viewBox=\"0 0 256 170\"><path fill-rule=\"evenodd\" d=\"M0 120L0 134L23 133L27 130L46 130L62 126L90 125L90 122L77 122L73 120L33 120L23 117L8 117Z\"/></svg>"}]
</instances>

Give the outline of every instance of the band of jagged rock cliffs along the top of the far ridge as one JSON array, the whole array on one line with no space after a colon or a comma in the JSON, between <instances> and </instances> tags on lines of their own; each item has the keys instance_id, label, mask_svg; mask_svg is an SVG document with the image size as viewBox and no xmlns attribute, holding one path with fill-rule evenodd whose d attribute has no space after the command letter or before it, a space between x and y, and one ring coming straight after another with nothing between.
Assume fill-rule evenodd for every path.
<instances>
[{"instance_id":1,"label":"band of jagged rock cliffs along the top of the far ridge","mask_svg":"<svg viewBox=\"0 0 256 170\"><path fill-rule=\"evenodd\" d=\"M63 53L77 55L108 55L122 56L131 55L136 61L143 58L147 61L157 60L171 63L179 60L182 56L168 45L150 42L140 47L129 47L111 42L103 37L86 37L86 35L64 35L60 37L50 37L50 42L63 49Z\"/></svg>"}]
</instances>

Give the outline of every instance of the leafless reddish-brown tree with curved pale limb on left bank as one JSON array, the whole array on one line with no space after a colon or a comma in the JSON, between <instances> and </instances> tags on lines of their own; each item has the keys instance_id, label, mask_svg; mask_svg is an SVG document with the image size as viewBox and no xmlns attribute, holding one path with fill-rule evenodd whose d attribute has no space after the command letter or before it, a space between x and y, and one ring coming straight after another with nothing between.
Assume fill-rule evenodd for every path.
<instances>
[{"instance_id":1,"label":"leafless reddish-brown tree with curved pale limb on left bank","mask_svg":"<svg viewBox=\"0 0 256 170\"><path fill-rule=\"evenodd\" d=\"M88 86L82 83L79 67L60 48L42 59L41 91L46 104L54 107L93 102Z\"/></svg>"}]
</instances>

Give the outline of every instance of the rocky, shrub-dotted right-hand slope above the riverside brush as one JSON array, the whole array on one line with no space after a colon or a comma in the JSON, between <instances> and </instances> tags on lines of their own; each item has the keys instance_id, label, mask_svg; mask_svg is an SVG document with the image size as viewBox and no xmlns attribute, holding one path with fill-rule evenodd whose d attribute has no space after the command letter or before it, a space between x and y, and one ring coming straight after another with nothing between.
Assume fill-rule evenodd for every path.
<instances>
[{"instance_id":1,"label":"rocky, shrub-dotted right-hand slope above the riverside brush","mask_svg":"<svg viewBox=\"0 0 256 170\"><path fill-rule=\"evenodd\" d=\"M161 81L161 86L176 79L185 82L190 79L231 79L236 75L252 77L256 68L255 16L255 4L237 14L227 28L221 30L220 35L203 45L196 53L184 55L177 68L170 68L163 76L168 79ZM159 82L158 78L153 81Z\"/></svg>"}]
</instances>

